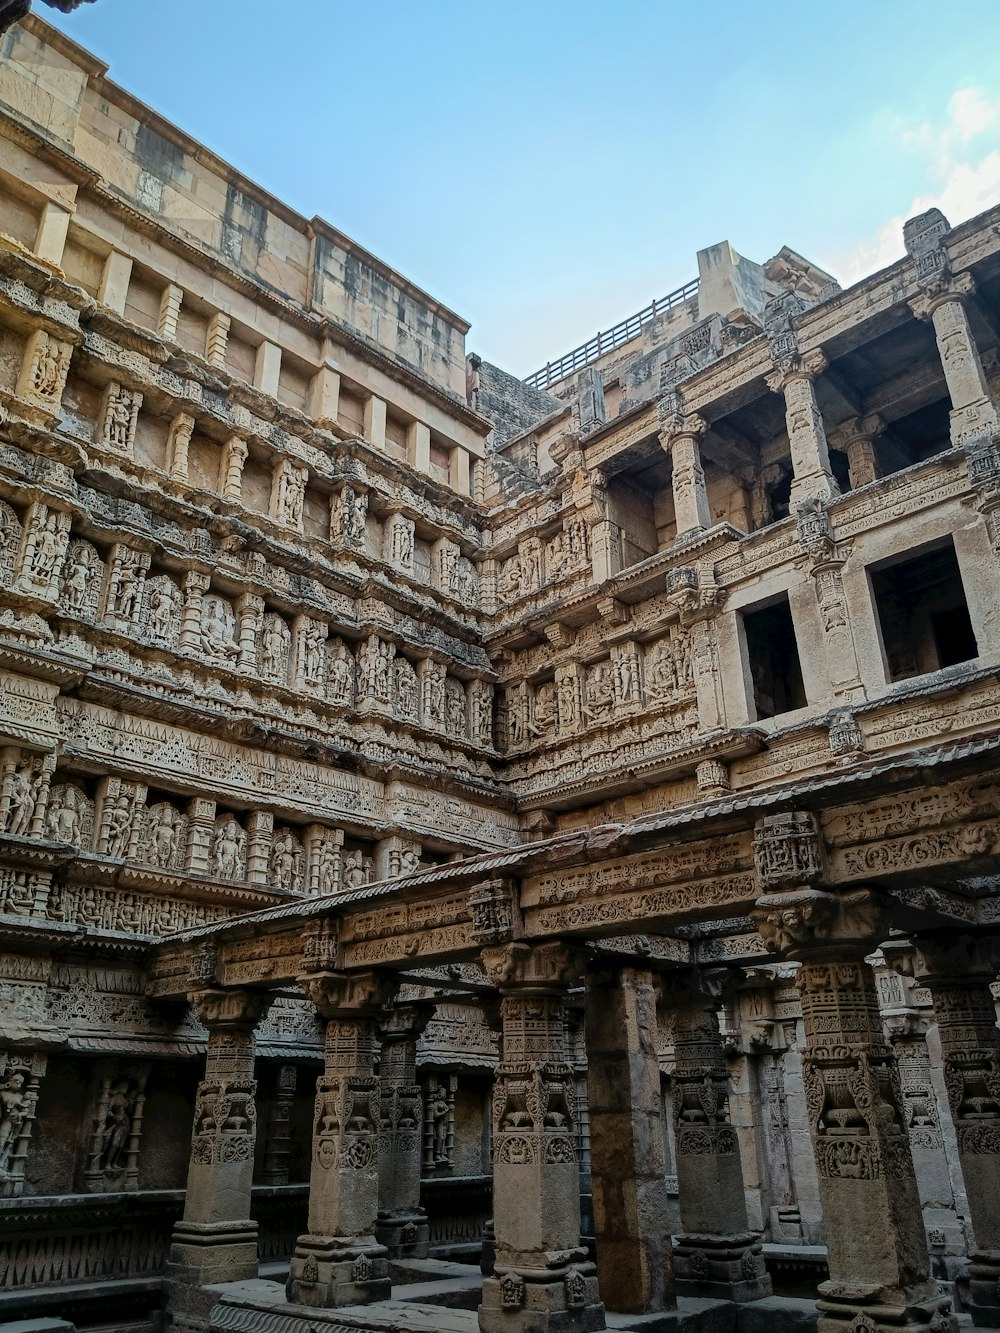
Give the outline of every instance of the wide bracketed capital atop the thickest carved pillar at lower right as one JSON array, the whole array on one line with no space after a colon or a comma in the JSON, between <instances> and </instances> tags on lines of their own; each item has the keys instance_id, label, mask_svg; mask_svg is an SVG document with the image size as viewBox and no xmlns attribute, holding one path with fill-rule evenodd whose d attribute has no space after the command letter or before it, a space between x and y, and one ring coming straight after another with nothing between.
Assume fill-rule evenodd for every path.
<instances>
[{"instance_id":1,"label":"wide bracketed capital atop the thickest carved pillar at lower right","mask_svg":"<svg viewBox=\"0 0 1000 1333\"><path fill-rule=\"evenodd\" d=\"M883 906L869 889L765 893L751 916L772 953L797 961L863 958L885 933Z\"/></svg>"}]
</instances>

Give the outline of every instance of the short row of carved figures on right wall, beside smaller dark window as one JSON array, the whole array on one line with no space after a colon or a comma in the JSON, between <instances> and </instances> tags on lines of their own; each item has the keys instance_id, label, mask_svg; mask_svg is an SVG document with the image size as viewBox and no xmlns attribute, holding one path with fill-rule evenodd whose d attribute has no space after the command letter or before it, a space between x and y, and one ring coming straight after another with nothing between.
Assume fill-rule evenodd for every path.
<instances>
[{"instance_id":1,"label":"short row of carved figures on right wall, beside smaller dark window","mask_svg":"<svg viewBox=\"0 0 1000 1333\"><path fill-rule=\"evenodd\" d=\"M651 644L627 640L609 657L507 685L499 733L511 754L653 712L672 714L679 740L697 730L691 636L680 625Z\"/></svg>"}]
</instances>

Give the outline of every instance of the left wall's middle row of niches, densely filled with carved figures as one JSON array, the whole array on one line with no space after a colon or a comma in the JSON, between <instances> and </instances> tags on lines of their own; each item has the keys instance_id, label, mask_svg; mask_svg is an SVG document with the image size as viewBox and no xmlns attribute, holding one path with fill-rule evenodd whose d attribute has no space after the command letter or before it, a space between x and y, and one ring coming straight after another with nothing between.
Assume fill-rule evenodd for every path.
<instances>
[{"instance_id":1,"label":"left wall's middle row of niches, densely filled with carved figures","mask_svg":"<svg viewBox=\"0 0 1000 1333\"><path fill-rule=\"evenodd\" d=\"M316 617L288 619L251 593L231 599L208 575L183 580L155 571L149 552L116 544L107 559L73 539L71 516L33 505L23 525L0 501L0 588L53 600L72 620L115 631L152 649L193 653L215 668L300 690L344 709L384 712L393 720L492 745L493 686L464 681L431 657L411 661L379 636L355 648Z\"/></svg>"}]
</instances>

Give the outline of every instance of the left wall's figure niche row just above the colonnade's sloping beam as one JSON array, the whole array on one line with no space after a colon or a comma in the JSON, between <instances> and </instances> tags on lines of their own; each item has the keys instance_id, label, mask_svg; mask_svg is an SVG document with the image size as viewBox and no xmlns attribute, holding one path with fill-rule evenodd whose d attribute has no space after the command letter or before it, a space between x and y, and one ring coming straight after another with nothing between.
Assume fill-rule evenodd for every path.
<instances>
[{"instance_id":1,"label":"left wall's figure niche row just above the colonnade's sloping beam","mask_svg":"<svg viewBox=\"0 0 1000 1333\"><path fill-rule=\"evenodd\" d=\"M336 893L440 857L420 842L357 838L321 824L275 825L268 810L223 810L144 782L56 772L55 754L0 750L0 830L61 842L168 876L197 874L283 893Z\"/></svg>"}]
</instances>

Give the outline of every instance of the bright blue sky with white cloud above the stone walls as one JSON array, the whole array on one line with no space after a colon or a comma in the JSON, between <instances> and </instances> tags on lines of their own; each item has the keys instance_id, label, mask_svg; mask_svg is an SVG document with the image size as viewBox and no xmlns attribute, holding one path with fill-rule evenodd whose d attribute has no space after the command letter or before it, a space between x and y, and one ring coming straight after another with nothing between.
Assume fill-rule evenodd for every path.
<instances>
[{"instance_id":1,"label":"bright blue sky with white cloud above the stone walls","mask_svg":"<svg viewBox=\"0 0 1000 1333\"><path fill-rule=\"evenodd\" d=\"M728 239L841 281L1000 201L996 0L96 0L43 17L519 375Z\"/></svg>"}]
</instances>

